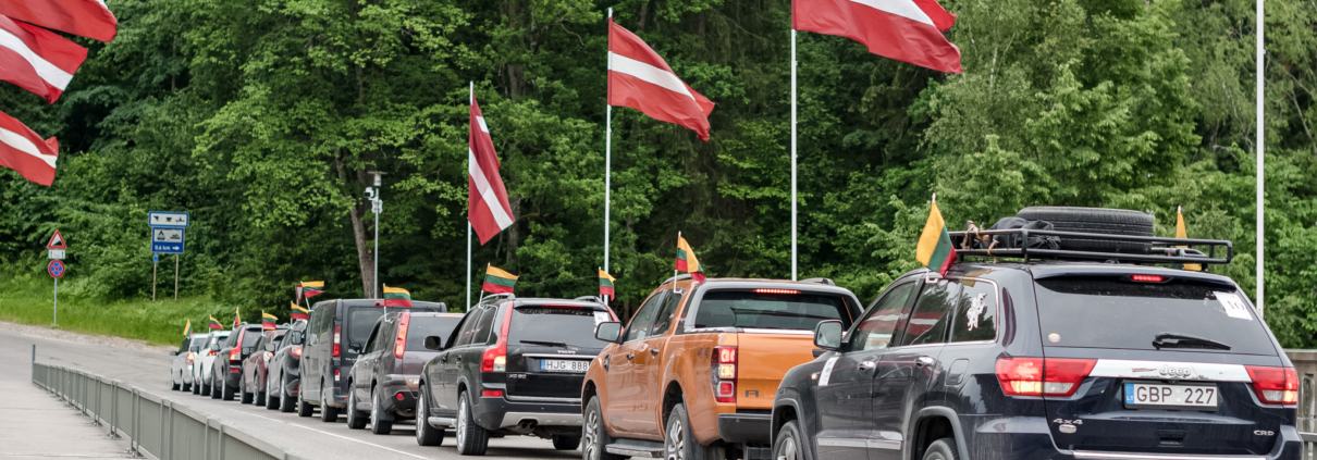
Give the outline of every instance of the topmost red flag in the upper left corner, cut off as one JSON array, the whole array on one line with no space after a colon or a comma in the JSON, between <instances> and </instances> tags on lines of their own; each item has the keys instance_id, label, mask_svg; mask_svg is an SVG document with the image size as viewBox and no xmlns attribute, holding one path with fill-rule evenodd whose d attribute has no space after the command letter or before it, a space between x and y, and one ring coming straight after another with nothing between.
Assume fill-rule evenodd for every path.
<instances>
[{"instance_id":1,"label":"topmost red flag in the upper left corner, cut off","mask_svg":"<svg viewBox=\"0 0 1317 460\"><path fill-rule=\"evenodd\" d=\"M119 30L119 20L100 0L4 0L0 14L103 42Z\"/></svg>"}]
</instances>

